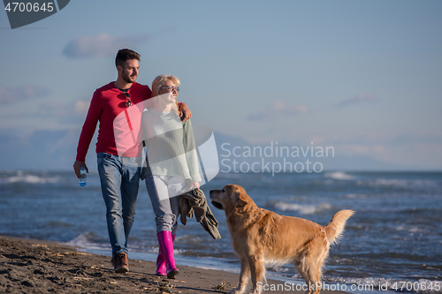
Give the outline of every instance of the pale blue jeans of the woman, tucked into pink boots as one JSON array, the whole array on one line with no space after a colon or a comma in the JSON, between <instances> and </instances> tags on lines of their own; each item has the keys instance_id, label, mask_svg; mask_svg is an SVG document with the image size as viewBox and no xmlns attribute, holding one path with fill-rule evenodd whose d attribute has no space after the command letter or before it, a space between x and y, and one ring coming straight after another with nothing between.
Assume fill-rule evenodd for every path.
<instances>
[{"instance_id":1,"label":"pale blue jeans of the woman, tucked into pink boots","mask_svg":"<svg viewBox=\"0 0 442 294\"><path fill-rule=\"evenodd\" d=\"M147 176L146 188L155 213L156 233L163 230L177 234L179 193L186 186L186 178L171 176Z\"/></svg>"}]
</instances>

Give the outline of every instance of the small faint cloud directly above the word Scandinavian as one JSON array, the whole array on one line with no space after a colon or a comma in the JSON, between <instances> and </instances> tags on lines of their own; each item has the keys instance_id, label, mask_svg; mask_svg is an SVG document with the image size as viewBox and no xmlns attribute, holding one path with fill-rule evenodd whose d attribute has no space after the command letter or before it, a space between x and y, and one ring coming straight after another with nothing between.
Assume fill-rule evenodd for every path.
<instances>
[{"instance_id":1,"label":"small faint cloud directly above the word Scandinavian","mask_svg":"<svg viewBox=\"0 0 442 294\"><path fill-rule=\"evenodd\" d=\"M302 113L307 113L309 110L303 105L294 105L281 101L271 102L270 105L263 107L258 111L250 113L247 117L252 121L263 121L270 117L293 117Z\"/></svg>"}]
</instances>

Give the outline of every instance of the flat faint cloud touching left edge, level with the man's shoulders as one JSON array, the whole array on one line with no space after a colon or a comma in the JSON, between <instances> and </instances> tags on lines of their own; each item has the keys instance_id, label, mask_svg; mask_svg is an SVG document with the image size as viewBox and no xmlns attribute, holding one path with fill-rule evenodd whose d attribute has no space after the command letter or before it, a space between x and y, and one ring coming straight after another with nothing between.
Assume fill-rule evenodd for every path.
<instances>
[{"instance_id":1,"label":"flat faint cloud touching left edge, level with the man's shoulders","mask_svg":"<svg viewBox=\"0 0 442 294\"><path fill-rule=\"evenodd\" d=\"M50 94L50 90L39 86L1 87L0 103L11 104Z\"/></svg>"}]
</instances>

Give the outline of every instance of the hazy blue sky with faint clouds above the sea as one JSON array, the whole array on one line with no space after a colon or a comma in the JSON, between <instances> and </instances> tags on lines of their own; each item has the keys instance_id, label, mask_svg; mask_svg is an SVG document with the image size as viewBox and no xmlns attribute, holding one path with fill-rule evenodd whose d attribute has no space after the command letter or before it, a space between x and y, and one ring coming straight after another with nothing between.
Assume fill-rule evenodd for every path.
<instances>
[{"instance_id":1,"label":"hazy blue sky with faint clouds above the sea","mask_svg":"<svg viewBox=\"0 0 442 294\"><path fill-rule=\"evenodd\" d=\"M92 93L131 48L140 83L181 79L194 124L251 146L314 142L337 161L442 170L441 15L440 1L95 0L11 30L0 11L4 169L35 168L14 158L42 146L70 162L45 168L70 169Z\"/></svg>"}]
</instances>

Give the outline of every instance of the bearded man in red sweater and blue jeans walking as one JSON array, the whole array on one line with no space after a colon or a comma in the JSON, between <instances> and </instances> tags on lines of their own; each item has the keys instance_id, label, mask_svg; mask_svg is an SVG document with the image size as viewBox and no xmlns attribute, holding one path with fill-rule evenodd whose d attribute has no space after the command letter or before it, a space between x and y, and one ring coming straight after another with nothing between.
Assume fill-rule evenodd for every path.
<instances>
[{"instance_id":1,"label":"bearded man in red sweater and blue jeans walking","mask_svg":"<svg viewBox=\"0 0 442 294\"><path fill-rule=\"evenodd\" d=\"M114 120L120 113L127 113L127 109L131 106L151 97L152 92L148 86L136 83L139 62L140 54L135 51L131 49L118 51L115 58L118 79L95 91L81 130L76 161L73 163L77 177L80 178L81 167L88 172L86 155L96 124L100 122L96 143L97 165L112 246L110 261L117 273L126 273L129 270L127 238L135 215L141 172L141 146L139 142L133 141L133 145L121 154L118 150L119 137L115 135L118 132L114 132ZM181 103L180 110L184 114L184 120L192 117L186 104ZM130 121L129 117L127 119L130 130L123 128L121 132L130 132L132 125L141 125L141 121L133 119ZM127 134L123 133L121 138L127 138Z\"/></svg>"}]
</instances>

